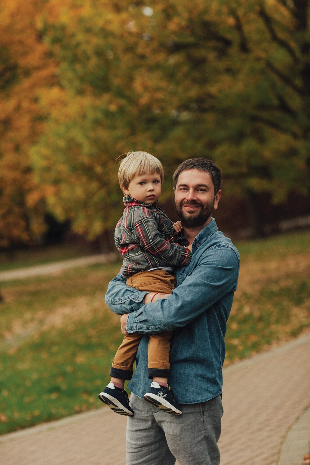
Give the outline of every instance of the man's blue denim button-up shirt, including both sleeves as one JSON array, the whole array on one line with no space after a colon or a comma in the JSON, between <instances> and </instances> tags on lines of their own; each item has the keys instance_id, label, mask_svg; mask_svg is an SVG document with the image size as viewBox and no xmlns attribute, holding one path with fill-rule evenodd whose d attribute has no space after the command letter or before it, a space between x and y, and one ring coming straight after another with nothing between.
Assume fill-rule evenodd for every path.
<instances>
[{"instance_id":1,"label":"man's blue denim button-up shirt, including both sleeves","mask_svg":"<svg viewBox=\"0 0 310 465\"><path fill-rule=\"evenodd\" d=\"M177 286L167 299L144 305L147 292L126 286L120 273L110 282L106 304L119 315L130 313L129 333L145 334L128 384L134 394L143 398L150 384L146 334L165 330L173 331L168 382L177 402L196 404L222 393L224 336L239 265L236 247L212 218L192 243L191 263L176 268Z\"/></svg>"}]
</instances>

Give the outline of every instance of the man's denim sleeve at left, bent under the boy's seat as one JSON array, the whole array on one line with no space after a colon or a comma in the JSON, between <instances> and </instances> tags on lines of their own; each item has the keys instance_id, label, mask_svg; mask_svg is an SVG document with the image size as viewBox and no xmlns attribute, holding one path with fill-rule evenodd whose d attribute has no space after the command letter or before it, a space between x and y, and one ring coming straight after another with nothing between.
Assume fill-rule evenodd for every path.
<instances>
[{"instance_id":1,"label":"man's denim sleeve at left, bent under the boy's seat","mask_svg":"<svg viewBox=\"0 0 310 465\"><path fill-rule=\"evenodd\" d=\"M119 273L110 281L105 302L112 312L118 315L139 310L144 305L145 291L126 286L126 278Z\"/></svg>"}]
</instances>

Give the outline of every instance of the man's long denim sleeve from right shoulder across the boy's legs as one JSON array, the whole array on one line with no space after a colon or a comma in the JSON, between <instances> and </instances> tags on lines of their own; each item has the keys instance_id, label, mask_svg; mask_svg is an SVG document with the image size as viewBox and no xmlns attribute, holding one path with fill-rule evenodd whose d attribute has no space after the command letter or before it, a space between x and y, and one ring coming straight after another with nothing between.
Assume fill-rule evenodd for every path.
<instances>
[{"instance_id":1,"label":"man's long denim sleeve from right shoulder across the boy's legs","mask_svg":"<svg viewBox=\"0 0 310 465\"><path fill-rule=\"evenodd\" d=\"M209 249L167 299L141 306L130 313L127 331L173 331L187 325L236 290L238 272L239 259L233 249L226 246Z\"/></svg>"}]
</instances>

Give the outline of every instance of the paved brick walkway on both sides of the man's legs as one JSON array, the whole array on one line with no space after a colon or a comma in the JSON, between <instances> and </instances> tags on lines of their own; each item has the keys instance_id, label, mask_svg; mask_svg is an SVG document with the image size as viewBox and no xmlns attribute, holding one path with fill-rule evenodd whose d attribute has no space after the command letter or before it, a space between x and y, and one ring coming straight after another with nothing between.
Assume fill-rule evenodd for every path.
<instances>
[{"instance_id":1,"label":"paved brick walkway on both sides of the man's legs","mask_svg":"<svg viewBox=\"0 0 310 465\"><path fill-rule=\"evenodd\" d=\"M224 370L221 465L277 464L286 434L310 405L309 360L308 333ZM0 463L125 465L125 424L103 407L7 434Z\"/></svg>"}]
</instances>

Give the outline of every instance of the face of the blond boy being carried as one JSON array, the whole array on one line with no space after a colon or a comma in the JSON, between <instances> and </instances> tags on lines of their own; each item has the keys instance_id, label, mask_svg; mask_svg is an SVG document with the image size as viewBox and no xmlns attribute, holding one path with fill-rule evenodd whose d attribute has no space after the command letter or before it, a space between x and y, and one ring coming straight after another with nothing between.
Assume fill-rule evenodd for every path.
<instances>
[{"instance_id":1,"label":"face of the blond boy being carried","mask_svg":"<svg viewBox=\"0 0 310 465\"><path fill-rule=\"evenodd\" d=\"M148 205L152 204L159 199L161 193L160 175L155 173L135 176L130 181L127 189L123 189L123 191L133 199L139 200L139 202Z\"/></svg>"}]
</instances>

